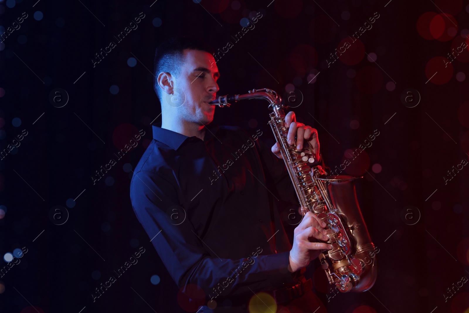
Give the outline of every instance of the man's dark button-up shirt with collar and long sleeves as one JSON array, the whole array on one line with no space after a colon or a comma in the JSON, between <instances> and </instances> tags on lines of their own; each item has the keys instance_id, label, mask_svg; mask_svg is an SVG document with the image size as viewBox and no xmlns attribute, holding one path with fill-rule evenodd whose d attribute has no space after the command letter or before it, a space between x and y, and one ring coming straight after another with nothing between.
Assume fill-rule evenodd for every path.
<instances>
[{"instance_id":1,"label":"man's dark button-up shirt with collar and long sleeves","mask_svg":"<svg viewBox=\"0 0 469 313\"><path fill-rule=\"evenodd\" d=\"M260 139L268 135L213 122L204 140L152 128L130 197L178 287L249 300L293 283L278 206L299 203L284 161Z\"/></svg>"}]
</instances>

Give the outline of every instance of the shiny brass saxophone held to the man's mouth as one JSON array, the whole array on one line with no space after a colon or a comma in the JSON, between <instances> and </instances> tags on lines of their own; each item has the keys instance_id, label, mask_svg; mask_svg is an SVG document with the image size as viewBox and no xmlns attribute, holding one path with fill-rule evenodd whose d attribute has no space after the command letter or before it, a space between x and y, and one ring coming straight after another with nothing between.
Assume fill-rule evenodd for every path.
<instances>
[{"instance_id":1,"label":"shiny brass saxophone held to the man's mouth","mask_svg":"<svg viewBox=\"0 0 469 313\"><path fill-rule=\"evenodd\" d=\"M309 145L301 151L287 143L285 106L280 96L271 89L253 89L247 94L225 95L210 102L219 107L229 107L229 101L264 99L269 102L272 128L275 139L280 143L280 152L295 187L303 213L308 210L316 214L327 225L328 244L333 248L319 254L321 267L329 283L341 292L366 291L376 281L378 262L374 245L366 228L356 198L355 179L348 175L327 175L315 162ZM368 259L368 260L367 260Z\"/></svg>"}]
</instances>

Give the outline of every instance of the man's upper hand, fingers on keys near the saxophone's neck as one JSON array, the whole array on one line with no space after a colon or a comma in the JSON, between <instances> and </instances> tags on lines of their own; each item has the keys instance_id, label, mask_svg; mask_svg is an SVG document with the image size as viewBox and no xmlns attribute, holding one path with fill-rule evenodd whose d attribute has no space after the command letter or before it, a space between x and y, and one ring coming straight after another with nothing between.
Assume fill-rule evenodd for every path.
<instances>
[{"instance_id":1,"label":"man's upper hand, fingers on keys near the saxophone's neck","mask_svg":"<svg viewBox=\"0 0 469 313\"><path fill-rule=\"evenodd\" d=\"M296 150L303 150L303 146L310 145L312 153L314 155L314 163L318 163L319 160L319 139L318 131L307 126L303 123L296 122L295 112L290 111L285 115L285 127L288 128L287 142L288 145L293 145L296 135ZM272 152L283 159L282 154L280 153L280 144L278 142L272 146Z\"/></svg>"}]
</instances>

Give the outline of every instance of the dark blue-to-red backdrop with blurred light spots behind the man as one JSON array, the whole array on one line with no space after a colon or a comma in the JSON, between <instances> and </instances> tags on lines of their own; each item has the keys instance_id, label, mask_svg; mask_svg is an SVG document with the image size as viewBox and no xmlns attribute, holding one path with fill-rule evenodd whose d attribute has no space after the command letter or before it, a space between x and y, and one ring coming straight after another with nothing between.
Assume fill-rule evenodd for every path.
<instances>
[{"instance_id":1,"label":"dark blue-to-red backdrop with blurred light spots behind the man","mask_svg":"<svg viewBox=\"0 0 469 313\"><path fill-rule=\"evenodd\" d=\"M28 132L0 161L0 209L6 212L0 211L1 268L5 253L28 249L0 278L2 312L184 312L176 284L129 199L131 170L151 140L150 122L161 124L152 87L154 50L172 35L203 39L216 50L231 41L233 47L217 62L219 95L253 88L279 92L295 107L298 121L318 130L331 168L379 131L346 168L364 176L357 196L379 248L378 280L370 291L339 294L328 302L333 293L327 294L325 276L313 262L315 292L329 312L462 313L469 307L468 283L453 295L447 290L469 278L469 169L463 167L446 184L444 179L468 159L463 78L469 52L446 68L442 59L431 61L448 58L464 40L460 35L469 33L468 1L152 2L0 1L1 33L23 12L28 15L0 44L2 151ZM419 34L419 17L442 11L454 17L440 15L431 24L423 18ZM113 36L140 12L145 17L138 28L117 42ZM262 18L235 42L231 36L251 12ZM356 42L344 53L345 63L328 67L330 53L375 12L379 18L359 38L363 51ZM95 53L110 41L116 47L93 67ZM129 58L137 59L129 61L135 66ZM56 102L49 100L55 88L68 93L63 107L57 107L66 99L63 92ZM408 88L413 90L407 93ZM217 108L215 122L252 134L261 129L272 145L268 114L265 102L250 100ZM113 153L139 130L146 134L137 147L117 160ZM93 184L91 176L110 158L117 164ZM62 225L49 216L54 206L68 211ZM61 214L63 221L64 209ZM287 232L291 236L293 229ZM95 288L139 247L145 252L138 263L93 303ZM160 278L156 285L153 275Z\"/></svg>"}]
</instances>

